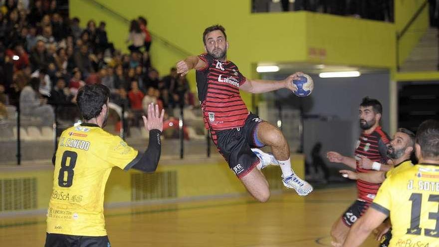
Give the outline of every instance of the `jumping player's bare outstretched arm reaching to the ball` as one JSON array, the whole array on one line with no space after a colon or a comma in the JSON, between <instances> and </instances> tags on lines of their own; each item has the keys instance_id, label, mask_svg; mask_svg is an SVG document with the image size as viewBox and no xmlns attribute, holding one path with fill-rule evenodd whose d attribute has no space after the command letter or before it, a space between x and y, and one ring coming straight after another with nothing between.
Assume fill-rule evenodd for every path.
<instances>
[{"instance_id":1,"label":"jumping player's bare outstretched arm reaching to the ball","mask_svg":"<svg viewBox=\"0 0 439 247\"><path fill-rule=\"evenodd\" d=\"M297 90L296 85L291 83L293 80L299 79L299 76L303 75L301 72L296 72L287 78L280 81L273 80L249 80L239 86L239 89L249 93L265 93L281 88L288 88L291 91Z\"/></svg>"}]
</instances>

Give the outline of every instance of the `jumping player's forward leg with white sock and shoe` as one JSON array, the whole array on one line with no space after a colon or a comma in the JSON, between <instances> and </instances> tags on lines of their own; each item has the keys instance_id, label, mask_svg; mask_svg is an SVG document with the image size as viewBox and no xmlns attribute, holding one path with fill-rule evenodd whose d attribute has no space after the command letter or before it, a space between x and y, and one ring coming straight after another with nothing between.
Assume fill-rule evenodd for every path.
<instances>
[{"instance_id":1,"label":"jumping player's forward leg with white sock and shoe","mask_svg":"<svg viewBox=\"0 0 439 247\"><path fill-rule=\"evenodd\" d=\"M271 147L271 151L282 170L283 185L294 189L300 196L311 193L312 186L297 177L291 168L290 147L282 132L268 122L261 122L257 127L257 138L263 144Z\"/></svg>"}]
</instances>

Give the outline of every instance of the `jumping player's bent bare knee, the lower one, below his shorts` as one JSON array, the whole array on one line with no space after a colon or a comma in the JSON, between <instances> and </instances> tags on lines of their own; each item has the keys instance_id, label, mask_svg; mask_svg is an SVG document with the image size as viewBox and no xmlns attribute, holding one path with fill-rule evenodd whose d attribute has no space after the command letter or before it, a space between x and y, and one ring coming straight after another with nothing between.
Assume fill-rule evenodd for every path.
<instances>
[{"instance_id":1,"label":"jumping player's bent bare knee, the lower one, below his shorts","mask_svg":"<svg viewBox=\"0 0 439 247\"><path fill-rule=\"evenodd\" d=\"M247 191L259 202L264 203L270 198L268 182L256 168L240 178Z\"/></svg>"}]
</instances>

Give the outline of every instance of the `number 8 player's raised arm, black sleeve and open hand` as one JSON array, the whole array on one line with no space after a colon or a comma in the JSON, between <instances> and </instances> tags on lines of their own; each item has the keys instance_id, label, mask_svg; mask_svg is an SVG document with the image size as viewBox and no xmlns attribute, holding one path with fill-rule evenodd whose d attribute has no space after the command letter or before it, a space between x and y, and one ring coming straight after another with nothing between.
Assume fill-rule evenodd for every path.
<instances>
[{"instance_id":1,"label":"number 8 player's raised arm, black sleeve and open hand","mask_svg":"<svg viewBox=\"0 0 439 247\"><path fill-rule=\"evenodd\" d=\"M159 106L150 104L148 106L148 118L142 116L145 129L149 131L148 149L143 153L142 158L132 168L143 172L154 172L159 164L162 144L160 134L163 130L163 116L165 110L159 112Z\"/></svg>"}]
</instances>

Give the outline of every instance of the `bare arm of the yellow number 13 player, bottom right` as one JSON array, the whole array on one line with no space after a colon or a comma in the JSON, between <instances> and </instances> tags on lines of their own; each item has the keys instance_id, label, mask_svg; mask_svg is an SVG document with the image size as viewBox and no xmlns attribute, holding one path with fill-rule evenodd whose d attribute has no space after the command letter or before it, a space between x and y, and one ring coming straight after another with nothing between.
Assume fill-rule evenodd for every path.
<instances>
[{"instance_id":1,"label":"bare arm of the yellow number 13 player, bottom right","mask_svg":"<svg viewBox=\"0 0 439 247\"><path fill-rule=\"evenodd\" d=\"M348 237L346 238L343 247L358 247L366 238L372 233L374 229L380 226L381 223L387 218L387 215L380 211L369 208L360 219L355 222L351 230L349 230Z\"/></svg>"}]
</instances>

